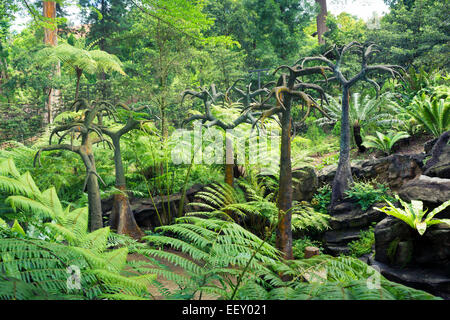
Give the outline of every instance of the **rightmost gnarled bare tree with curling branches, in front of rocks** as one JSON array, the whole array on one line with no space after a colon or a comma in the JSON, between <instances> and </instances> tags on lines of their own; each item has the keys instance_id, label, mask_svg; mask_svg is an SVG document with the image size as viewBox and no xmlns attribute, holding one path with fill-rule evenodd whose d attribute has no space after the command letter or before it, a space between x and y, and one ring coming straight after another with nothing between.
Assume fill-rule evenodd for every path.
<instances>
[{"instance_id":1,"label":"rightmost gnarled bare tree with curling branches, in front of rocks","mask_svg":"<svg viewBox=\"0 0 450 320\"><path fill-rule=\"evenodd\" d=\"M343 58L346 53L356 53L361 59L360 71L353 75L351 78L347 78L342 70ZM403 69L397 65L369 65L369 60L373 55L379 52L376 49L375 44L360 44L356 41L350 42L349 44L338 48L334 46L324 55L306 57L298 61L301 67L307 62L320 62L325 64L323 68L329 68L333 71L334 76L328 80L336 80L342 86L342 115L341 115L341 137L340 137L340 152L339 152L339 163L336 171L336 175L333 180L332 186L332 196L331 196L331 211L344 198L344 193L348 189L349 185L353 182L352 173L350 168L350 122L349 122L349 90L359 81L366 81L378 92L380 86L378 83L369 78L370 74L377 72L388 72L392 77L402 77L398 72L399 69ZM335 62L332 62L328 56L334 56Z\"/></svg>"}]
</instances>

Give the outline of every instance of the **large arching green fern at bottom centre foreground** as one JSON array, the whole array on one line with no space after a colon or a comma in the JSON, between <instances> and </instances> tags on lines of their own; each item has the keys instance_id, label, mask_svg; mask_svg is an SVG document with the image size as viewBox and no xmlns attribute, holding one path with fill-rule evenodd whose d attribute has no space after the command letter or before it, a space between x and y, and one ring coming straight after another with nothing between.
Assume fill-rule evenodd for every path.
<instances>
[{"instance_id":1,"label":"large arching green fern at bottom centre foreground","mask_svg":"<svg viewBox=\"0 0 450 320\"><path fill-rule=\"evenodd\" d=\"M189 216L178 218L176 224L158 230L170 236L151 235L144 239L151 244L171 247L176 252L149 249L149 253L182 267L184 273L176 274L167 268L152 271L176 281L190 298L196 293L230 298L236 279L247 264L244 284L248 279L257 281L259 276L268 274L266 265L279 259L279 252L274 247L229 220ZM177 252L187 254L189 258Z\"/></svg>"}]
</instances>

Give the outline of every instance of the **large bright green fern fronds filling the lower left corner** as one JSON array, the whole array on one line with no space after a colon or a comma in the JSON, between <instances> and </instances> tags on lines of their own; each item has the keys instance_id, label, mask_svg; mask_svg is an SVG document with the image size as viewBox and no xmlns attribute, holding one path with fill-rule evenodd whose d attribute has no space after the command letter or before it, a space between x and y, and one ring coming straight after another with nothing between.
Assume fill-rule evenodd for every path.
<instances>
[{"instance_id":1,"label":"large bright green fern fronds filling the lower left corner","mask_svg":"<svg viewBox=\"0 0 450 320\"><path fill-rule=\"evenodd\" d=\"M14 168L11 163L9 167ZM41 192L29 174L15 180L24 186L23 193L28 197L13 195L7 198L8 203L26 213L50 218L52 221L43 225L51 232L46 234L49 241L32 239L25 233L21 234L22 238L1 240L0 274L12 277L12 281L25 281L48 294L65 295L70 294L67 268L75 265L81 270L83 281L87 281L81 285L82 292L77 292L80 298L150 297L148 286L156 276L141 266L127 264L129 248L137 252L139 245L121 238L122 246L111 249L119 243L110 243L109 227L88 232L86 207L63 208L54 188ZM134 274L123 275L126 268L131 268ZM24 290L27 288L23 286Z\"/></svg>"}]
</instances>

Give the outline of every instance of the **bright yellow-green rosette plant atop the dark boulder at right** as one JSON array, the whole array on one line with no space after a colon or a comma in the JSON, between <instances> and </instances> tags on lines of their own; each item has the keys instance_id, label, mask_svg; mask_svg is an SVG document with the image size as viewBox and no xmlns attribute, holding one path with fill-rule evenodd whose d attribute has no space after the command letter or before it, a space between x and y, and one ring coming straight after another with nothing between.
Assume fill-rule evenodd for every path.
<instances>
[{"instance_id":1,"label":"bright yellow-green rosette plant atop the dark boulder at right","mask_svg":"<svg viewBox=\"0 0 450 320\"><path fill-rule=\"evenodd\" d=\"M450 219L433 219L433 217L450 206L450 200L444 202L439 207L435 208L433 211L428 213L427 209L423 209L423 202L418 200L412 200L411 203L406 203L398 195L395 198L400 201L404 209L400 209L395 207L391 202L385 200L389 207L383 207L381 209L375 208L375 210L386 213L387 215L398 218L405 223L407 223L411 228L416 229L420 235L423 235L427 230L427 227L439 224L446 223L450 226ZM426 217L425 217L426 216Z\"/></svg>"}]
</instances>

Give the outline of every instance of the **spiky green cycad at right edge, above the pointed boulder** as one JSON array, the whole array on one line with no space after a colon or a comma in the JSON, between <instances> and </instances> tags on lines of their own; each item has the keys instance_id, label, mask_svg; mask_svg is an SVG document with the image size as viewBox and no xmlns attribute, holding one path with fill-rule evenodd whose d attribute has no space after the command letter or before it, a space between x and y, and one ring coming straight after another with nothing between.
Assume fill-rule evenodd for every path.
<instances>
[{"instance_id":1,"label":"spiky green cycad at right edge, above the pointed boulder","mask_svg":"<svg viewBox=\"0 0 450 320\"><path fill-rule=\"evenodd\" d=\"M414 97L410 108L405 110L420 123L424 129L435 137L439 137L450 129L450 101L430 98L422 94Z\"/></svg>"}]
</instances>

